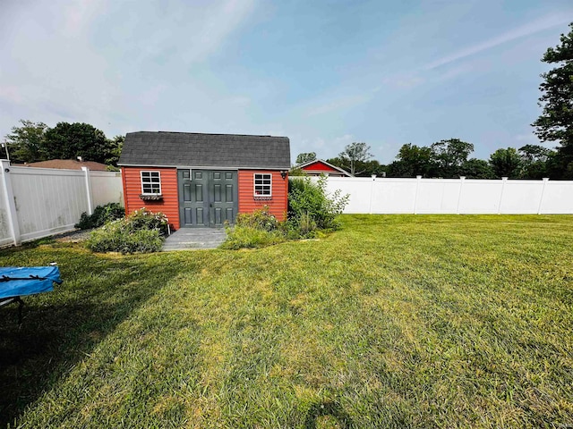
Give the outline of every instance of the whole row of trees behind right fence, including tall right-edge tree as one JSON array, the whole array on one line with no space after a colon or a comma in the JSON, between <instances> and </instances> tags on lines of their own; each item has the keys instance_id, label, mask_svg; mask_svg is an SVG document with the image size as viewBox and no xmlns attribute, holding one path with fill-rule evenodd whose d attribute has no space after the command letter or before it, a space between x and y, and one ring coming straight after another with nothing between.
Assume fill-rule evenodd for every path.
<instances>
[{"instance_id":1,"label":"whole row of trees behind right fence, including tall right-edge tree","mask_svg":"<svg viewBox=\"0 0 573 429\"><path fill-rule=\"evenodd\" d=\"M372 159L370 146L355 142L326 161L357 176L573 180L573 22L569 28L569 34L561 34L560 45L548 48L542 57L543 63L556 67L541 75L544 81L539 87L539 105L543 110L531 124L542 142L559 145L554 149L540 145L500 148L483 160L469 157L474 152L473 144L445 139L428 147L403 145L396 159L383 165ZM296 164L315 158L313 152L303 153L296 158Z\"/></svg>"}]
</instances>

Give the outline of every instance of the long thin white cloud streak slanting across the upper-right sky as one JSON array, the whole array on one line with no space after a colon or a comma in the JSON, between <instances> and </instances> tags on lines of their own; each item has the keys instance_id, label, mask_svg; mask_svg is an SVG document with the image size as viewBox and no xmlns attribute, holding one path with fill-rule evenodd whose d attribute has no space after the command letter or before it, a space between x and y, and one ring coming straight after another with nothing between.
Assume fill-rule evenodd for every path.
<instances>
[{"instance_id":1,"label":"long thin white cloud streak slanting across the upper-right sky","mask_svg":"<svg viewBox=\"0 0 573 429\"><path fill-rule=\"evenodd\" d=\"M432 70L440 67L441 65L453 63L468 56L475 55L487 49L491 49L492 47L500 46L509 41L516 40L517 38L525 38L527 36L531 36L532 34L543 31L544 29L552 29L553 27L562 26L563 24L569 23L569 21L570 16L563 14L543 17L537 21L530 22L529 24L518 27L517 29L512 29L506 33L503 33L496 38L490 38L489 40L478 43L477 45L468 46L454 54L443 56L440 59L433 61L432 63L424 65L423 70Z\"/></svg>"}]
</instances>

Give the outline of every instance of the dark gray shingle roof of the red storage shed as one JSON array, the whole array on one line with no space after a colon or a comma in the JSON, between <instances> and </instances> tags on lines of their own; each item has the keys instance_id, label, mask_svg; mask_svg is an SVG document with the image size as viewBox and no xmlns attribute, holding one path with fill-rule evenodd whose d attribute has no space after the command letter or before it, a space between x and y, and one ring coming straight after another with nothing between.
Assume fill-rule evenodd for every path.
<instances>
[{"instance_id":1,"label":"dark gray shingle roof of the red storage shed","mask_svg":"<svg viewBox=\"0 0 573 429\"><path fill-rule=\"evenodd\" d=\"M129 132L117 164L288 170L290 142L272 136Z\"/></svg>"}]
</instances>

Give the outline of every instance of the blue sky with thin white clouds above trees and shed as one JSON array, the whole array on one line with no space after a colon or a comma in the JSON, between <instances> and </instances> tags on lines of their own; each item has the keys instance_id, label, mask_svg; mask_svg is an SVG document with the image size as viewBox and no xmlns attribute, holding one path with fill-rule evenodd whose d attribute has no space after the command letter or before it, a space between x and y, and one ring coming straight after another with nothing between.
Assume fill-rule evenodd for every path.
<instances>
[{"instance_id":1,"label":"blue sky with thin white clouds above trees and shed","mask_svg":"<svg viewBox=\"0 0 573 429\"><path fill-rule=\"evenodd\" d=\"M20 119L271 134L293 161L537 144L540 59L573 21L570 0L0 1L0 137Z\"/></svg>"}]
</instances>

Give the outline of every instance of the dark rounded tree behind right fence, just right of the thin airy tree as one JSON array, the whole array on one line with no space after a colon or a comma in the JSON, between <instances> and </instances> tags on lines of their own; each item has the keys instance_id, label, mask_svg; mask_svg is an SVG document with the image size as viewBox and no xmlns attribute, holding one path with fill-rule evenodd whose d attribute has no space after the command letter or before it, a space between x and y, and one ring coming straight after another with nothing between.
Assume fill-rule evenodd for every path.
<instances>
[{"instance_id":1,"label":"dark rounded tree behind right fence, just right of the thin airy tree","mask_svg":"<svg viewBox=\"0 0 573 429\"><path fill-rule=\"evenodd\" d=\"M396 156L396 161L389 164L389 177L432 177L435 164L430 147L416 146L412 143L402 145Z\"/></svg>"}]
</instances>

